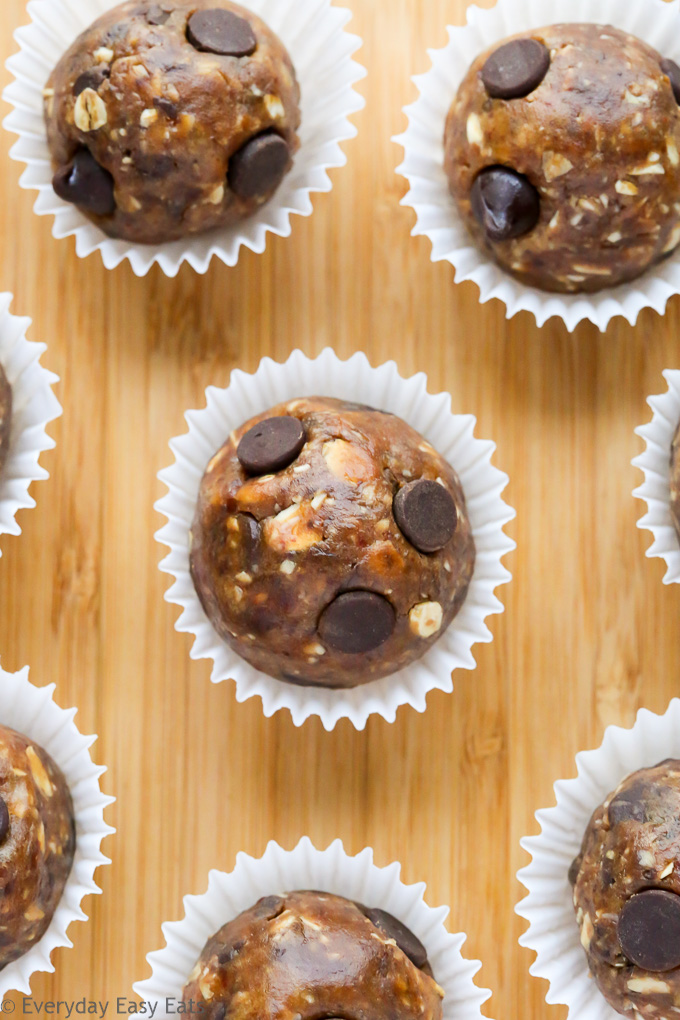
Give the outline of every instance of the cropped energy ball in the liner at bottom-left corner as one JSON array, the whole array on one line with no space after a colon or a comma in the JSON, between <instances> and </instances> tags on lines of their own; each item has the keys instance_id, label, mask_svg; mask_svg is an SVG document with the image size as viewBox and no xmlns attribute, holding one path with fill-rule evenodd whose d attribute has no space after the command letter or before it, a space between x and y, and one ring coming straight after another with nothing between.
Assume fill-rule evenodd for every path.
<instances>
[{"instance_id":1,"label":"cropped energy ball in the liner at bottom-left corner","mask_svg":"<svg viewBox=\"0 0 680 1020\"><path fill-rule=\"evenodd\" d=\"M0 969L44 935L74 852L66 780L47 752L0 726Z\"/></svg>"}]
</instances>

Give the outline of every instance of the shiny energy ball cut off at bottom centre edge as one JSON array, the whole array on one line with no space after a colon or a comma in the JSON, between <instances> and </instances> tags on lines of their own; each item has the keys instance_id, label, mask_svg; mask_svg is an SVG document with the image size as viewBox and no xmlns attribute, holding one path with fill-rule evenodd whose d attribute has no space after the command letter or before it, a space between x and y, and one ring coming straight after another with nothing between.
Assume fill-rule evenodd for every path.
<instances>
[{"instance_id":1,"label":"shiny energy ball cut off at bottom centre edge","mask_svg":"<svg viewBox=\"0 0 680 1020\"><path fill-rule=\"evenodd\" d=\"M207 942L182 993L206 1020L441 1020L442 998L401 921L328 892L260 900Z\"/></svg>"}]
</instances>

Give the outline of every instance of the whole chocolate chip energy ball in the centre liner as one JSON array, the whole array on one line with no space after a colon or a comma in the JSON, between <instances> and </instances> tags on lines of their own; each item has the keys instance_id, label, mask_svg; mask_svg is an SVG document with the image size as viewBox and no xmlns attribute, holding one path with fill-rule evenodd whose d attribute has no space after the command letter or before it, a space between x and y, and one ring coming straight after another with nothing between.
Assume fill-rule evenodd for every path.
<instances>
[{"instance_id":1,"label":"whole chocolate chip energy ball in the centre liner","mask_svg":"<svg viewBox=\"0 0 680 1020\"><path fill-rule=\"evenodd\" d=\"M238 428L200 487L196 591L256 669L354 687L420 658L475 561L453 468L393 414L323 397Z\"/></svg>"}]
</instances>

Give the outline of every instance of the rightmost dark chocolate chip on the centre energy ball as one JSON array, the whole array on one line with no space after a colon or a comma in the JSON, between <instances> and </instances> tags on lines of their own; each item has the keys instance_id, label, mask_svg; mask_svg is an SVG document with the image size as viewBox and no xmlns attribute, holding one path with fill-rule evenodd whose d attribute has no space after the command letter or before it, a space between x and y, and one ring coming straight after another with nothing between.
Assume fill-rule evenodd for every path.
<instances>
[{"instance_id":1,"label":"rightmost dark chocolate chip on the centre energy ball","mask_svg":"<svg viewBox=\"0 0 680 1020\"><path fill-rule=\"evenodd\" d=\"M438 481L420 478L397 493L395 519L412 546L436 553L451 542L458 523L453 496Z\"/></svg>"}]
</instances>

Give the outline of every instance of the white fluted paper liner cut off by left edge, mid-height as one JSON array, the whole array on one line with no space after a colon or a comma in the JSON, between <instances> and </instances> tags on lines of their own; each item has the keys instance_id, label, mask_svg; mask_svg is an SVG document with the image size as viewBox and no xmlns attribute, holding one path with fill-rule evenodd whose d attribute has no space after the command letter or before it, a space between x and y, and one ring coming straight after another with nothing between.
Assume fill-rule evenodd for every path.
<instances>
[{"instance_id":1,"label":"white fluted paper liner cut off by left edge, mid-height","mask_svg":"<svg viewBox=\"0 0 680 1020\"><path fill-rule=\"evenodd\" d=\"M54 448L46 428L61 414L52 391L59 376L40 363L47 347L25 339L31 319L11 315L11 294L0 294L0 365L12 388L9 451L0 471L0 534L21 533L16 513L36 505L29 494L31 482L49 477L40 455Z\"/></svg>"}]
</instances>

